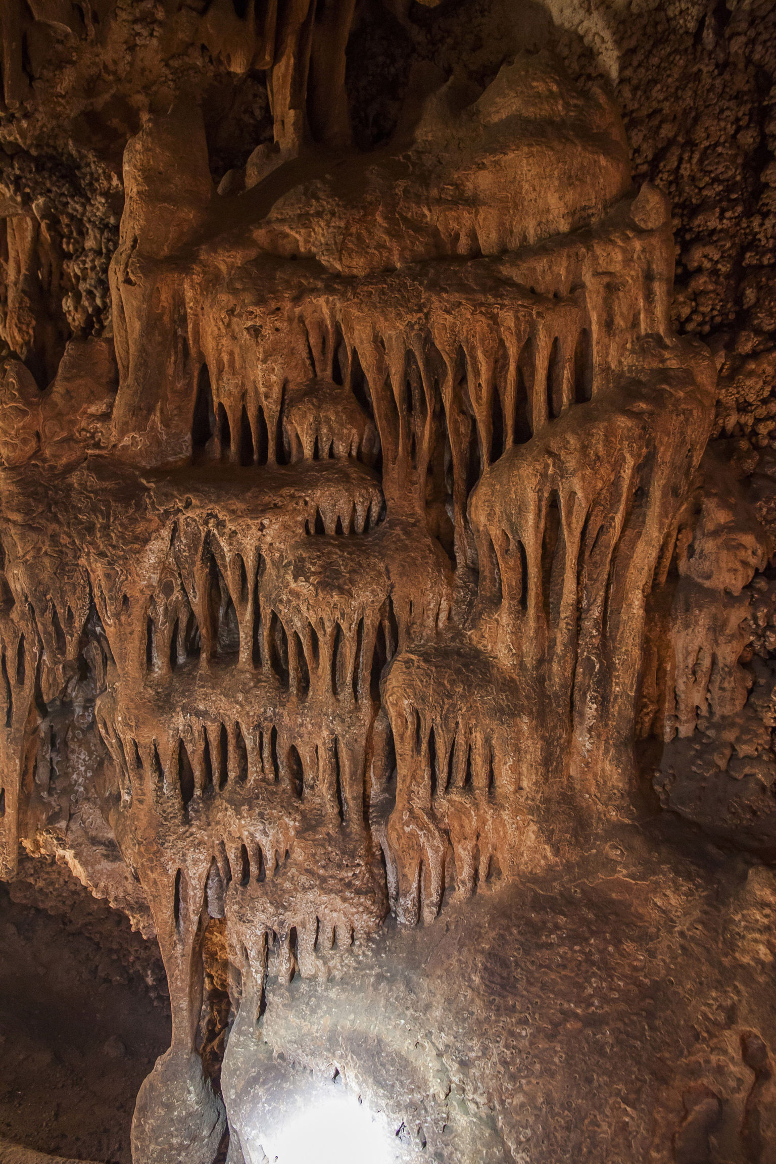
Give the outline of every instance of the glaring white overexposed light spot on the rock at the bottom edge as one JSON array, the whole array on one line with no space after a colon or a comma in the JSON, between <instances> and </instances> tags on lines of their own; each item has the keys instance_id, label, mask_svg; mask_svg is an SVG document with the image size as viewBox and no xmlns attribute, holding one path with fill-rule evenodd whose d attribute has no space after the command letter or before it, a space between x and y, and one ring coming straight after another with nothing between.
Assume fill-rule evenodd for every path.
<instances>
[{"instance_id":1,"label":"glaring white overexposed light spot on the rock at the bottom edge","mask_svg":"<svg viewBox=\"0 0 776 1164\"><path fill-rule=\"evenodd\" d=\"M390 1164L387 1128L353 1094L315 1099L262 1136L275 1164Z\"/></svg>"}]
</instances>

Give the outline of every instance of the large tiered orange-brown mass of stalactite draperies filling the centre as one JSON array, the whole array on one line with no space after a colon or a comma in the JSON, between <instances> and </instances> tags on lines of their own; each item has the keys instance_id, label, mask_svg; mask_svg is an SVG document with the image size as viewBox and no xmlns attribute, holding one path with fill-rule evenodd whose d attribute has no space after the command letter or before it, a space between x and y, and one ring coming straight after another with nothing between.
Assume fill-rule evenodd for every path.
<instances>
[{"instance_id":1,"label":"large tiered orange-brown mass of stalactite draperies filling the centre","mask_svg":"<svg viewBox=\"0 0 776 1164\"><path fill-rule=\"evenodd\" d=\"M128 147L101 443L47 480L47 398L6 434L0 837L8 875L78 688L176 1051L208 916L258 1014L268 971L325 974L389 908L430 922L631 811L647 601L713 365L671 335L667 208L621 198L617 149L574 234L503 255L467 235L472 255L440 230L385 271L329 262L323 213L302 253L293 205L271 248L251 191L230 235L185 111Z\"/></svg>"}]
</instances>

